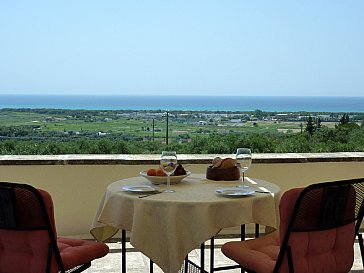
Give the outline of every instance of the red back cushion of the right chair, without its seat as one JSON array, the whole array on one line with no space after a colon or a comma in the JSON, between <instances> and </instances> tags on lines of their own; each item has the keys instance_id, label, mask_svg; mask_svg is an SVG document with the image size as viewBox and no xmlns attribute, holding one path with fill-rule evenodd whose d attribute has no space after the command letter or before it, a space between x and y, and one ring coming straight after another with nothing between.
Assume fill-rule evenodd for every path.
<instances>
[{"instance_id":1,"label":"red back cushion of the right chair, without its seat","mask_svg":"<svg viewBox=\"0 0 364 273\"><path fill-rule=\"evenodd\" d=\"M279 203L281 240L286 233L294 204L302 190L303 188L296 188L286 191ZM317 195L316 198L310 199L316 204L311 203L310 210L306 211L306 227L315 226L315 223L310 223L310 220L319 217L319 210L316 208L320 206L322 192L314 191L311 193ZM350 192L350 198L355 198L354 191ZM355 205L355 202L349 204ZM349 209L354 211L354 207ZM350 271L354 262L354 239L354 222L324 231L291 233L289 245L292 249L295 272L335 273ZM284 260L283 267L285 269L281 272L288 272L287 259Z\"/></svg>"}]
</instances>

